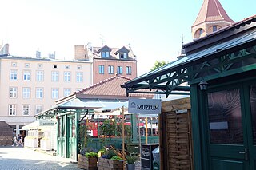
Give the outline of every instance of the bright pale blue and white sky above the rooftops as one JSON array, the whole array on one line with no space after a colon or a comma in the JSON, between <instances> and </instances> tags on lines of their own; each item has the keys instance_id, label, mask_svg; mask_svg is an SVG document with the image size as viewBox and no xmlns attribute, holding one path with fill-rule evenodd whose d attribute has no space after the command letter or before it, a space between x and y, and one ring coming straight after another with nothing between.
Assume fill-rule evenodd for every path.
<instances>
[{"instance_id":1,"label":"bright pale blue and white sky above the rooftops","mask_svg":"<svg viewBox=\"0 0 256 170\"><path fill-rule=\"evenodd\" d=\"M234 22L255 12L255 0L219 0ZM10 54L58 59L74 58L74 45L91 42L110 47L131 45L138 57L138 75L154 61L174 61L203 0L0 0L0 41Z\"/></svg>"}]
</instances>

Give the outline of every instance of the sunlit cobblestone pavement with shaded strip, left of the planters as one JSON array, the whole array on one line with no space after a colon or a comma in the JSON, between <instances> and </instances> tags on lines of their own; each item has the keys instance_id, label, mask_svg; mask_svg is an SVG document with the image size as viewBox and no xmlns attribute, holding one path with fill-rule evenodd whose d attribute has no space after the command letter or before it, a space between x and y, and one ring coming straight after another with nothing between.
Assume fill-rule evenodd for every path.
<instances>
[{"instance_id":1,"label":"sunlit cobblestone pavement with shaded strip, left of the planters","mask_svg":"<svg viewBox=\"0 0 256 170\"><path fill-rule=\"evenodd\" d=\"M50 156L30 148L0 147L1 170L79 169L70 159ZM81 170L81 169L80 169Z\"/></svg>"}]
</instances>

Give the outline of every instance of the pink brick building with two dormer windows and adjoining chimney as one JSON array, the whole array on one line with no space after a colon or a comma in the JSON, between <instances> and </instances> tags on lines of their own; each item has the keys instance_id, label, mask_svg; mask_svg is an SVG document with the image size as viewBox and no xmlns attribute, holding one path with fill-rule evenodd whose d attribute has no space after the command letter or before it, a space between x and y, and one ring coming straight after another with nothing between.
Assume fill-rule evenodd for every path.
<instances>
[{"instance_id":1,"label":"pink brick building with two dormer windows and adjoining chimney","mask_svg":"<svg viewBox=\"0 0 256 170\"><path fill-rule=\"evenodd\" d=\"M87 45L75 45L75 59L89 60L93 58L93 82L98 83L115 74L130 79L137 77L137 60L132 49L126 46L122 48L92 47Z\"/></svg>"}]
</instances>

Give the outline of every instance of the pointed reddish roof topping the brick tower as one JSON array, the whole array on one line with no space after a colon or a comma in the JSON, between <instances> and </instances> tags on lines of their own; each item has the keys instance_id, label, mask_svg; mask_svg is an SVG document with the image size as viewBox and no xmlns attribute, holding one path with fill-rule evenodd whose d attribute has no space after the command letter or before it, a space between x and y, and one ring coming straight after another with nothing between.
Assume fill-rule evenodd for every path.
<instances>
[{"instance_id":1,"label":"pointed reddish roof topping the brick tower","mask_svg":"<svg viewBox=\"0 0 256 170\"><path fill-rule=\"evenodd\" d=\"M193 26L202 22L226 21L234 22L227 14L218 0L204 0L198 17Z\"/></svg>"}]
</instances>

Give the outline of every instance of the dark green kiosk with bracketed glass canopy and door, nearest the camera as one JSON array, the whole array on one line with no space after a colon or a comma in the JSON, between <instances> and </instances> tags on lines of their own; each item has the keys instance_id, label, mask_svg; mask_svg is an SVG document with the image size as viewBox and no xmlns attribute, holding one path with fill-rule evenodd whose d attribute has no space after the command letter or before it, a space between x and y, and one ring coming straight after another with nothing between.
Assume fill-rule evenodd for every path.
<instances>
[{"instance_id":1,"label":"dark green kiosk with bracketed glass canopy and door, nearest the camera","mask_svg":"<svg viewBox=\"0 0 256 170\"><path fill-rule=\"evenodd\" d=\"M183 49L186 56L122 88L166 96L190 91L194 169L256 169L256 15Z\"/></svg>"}]
</instances>

